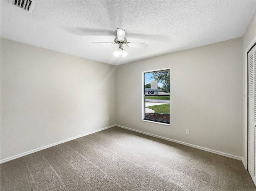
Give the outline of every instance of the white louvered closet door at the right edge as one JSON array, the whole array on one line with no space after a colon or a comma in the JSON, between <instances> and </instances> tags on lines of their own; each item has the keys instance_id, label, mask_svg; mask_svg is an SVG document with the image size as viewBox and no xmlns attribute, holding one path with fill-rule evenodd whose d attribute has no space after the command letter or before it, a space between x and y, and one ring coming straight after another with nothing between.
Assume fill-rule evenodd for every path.
<instances>
[{"instance_id":1,"label":"white louvered closet door at the right edge","mask_svg":"<svg viewBox=\"0 0 256 191\"><path fill-rule=\"evenodd\" d=\"M248 171L256 183L256 46L248 53Z\"/></svg>"}]
</instances>

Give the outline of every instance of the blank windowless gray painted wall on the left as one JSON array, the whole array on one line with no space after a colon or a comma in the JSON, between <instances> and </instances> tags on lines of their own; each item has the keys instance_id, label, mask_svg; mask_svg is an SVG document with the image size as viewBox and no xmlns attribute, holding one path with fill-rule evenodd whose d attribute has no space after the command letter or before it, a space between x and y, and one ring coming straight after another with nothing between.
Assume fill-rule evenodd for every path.
<instances>
[{"instance_id":1,"label":"blank windowless gray painted wall on the left","mask_svg":"<svg viewBox=\"0 0 256 191\"><path fill-rule=\"evenodd\" d=\"M116 124L114 69L1 39L1 159Z\"/></svg>"}]
</instances>

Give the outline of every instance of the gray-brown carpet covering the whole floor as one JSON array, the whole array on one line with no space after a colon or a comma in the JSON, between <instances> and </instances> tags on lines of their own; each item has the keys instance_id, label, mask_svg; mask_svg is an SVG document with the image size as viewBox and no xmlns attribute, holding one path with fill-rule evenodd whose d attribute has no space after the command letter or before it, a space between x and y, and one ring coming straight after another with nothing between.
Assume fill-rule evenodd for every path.
<instances>
[{"instance_id":1,"label":"gray-brown carpet covering the whole floor","mask_svg":"<svg viewBox=\"0 0 256 191\"><path fill-rule=\"evenodd\" d=\"M241 161L114 127L1 164L1 191L255 190Z\"/></svg>"}]
</instances>

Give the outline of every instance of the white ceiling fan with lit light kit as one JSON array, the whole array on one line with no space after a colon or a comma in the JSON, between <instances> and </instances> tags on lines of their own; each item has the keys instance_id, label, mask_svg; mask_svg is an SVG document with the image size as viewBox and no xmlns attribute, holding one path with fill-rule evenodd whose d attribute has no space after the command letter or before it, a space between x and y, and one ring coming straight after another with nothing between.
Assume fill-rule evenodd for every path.
<instances>
[{"instance_id":1,"label":"white ceiling fan with lit light kit","mask_svg":"<svg viewBox=\"0 0 256 191\"><path fill-rule=\"evenodd\" d=\"M148 44L144 43L135 43L135 42L127 42L125 36L125 30L116 29L117 37L114 39L114 42L92 42L92 43L100 43L100 44L118 44L118 48L114 51L114 55L119 57L122 55L123 57L128 55L128 53L124 50L123 45L128 47L135 47L135 48L147 48Z\"/></svg>"}]
</instances>

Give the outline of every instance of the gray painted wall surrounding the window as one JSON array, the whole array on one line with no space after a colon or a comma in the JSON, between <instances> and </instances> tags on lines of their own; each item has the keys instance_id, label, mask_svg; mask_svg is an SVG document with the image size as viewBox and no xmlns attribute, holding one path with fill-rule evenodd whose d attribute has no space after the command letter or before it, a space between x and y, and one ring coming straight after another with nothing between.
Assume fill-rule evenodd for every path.
<instances>
[{"instance_id":1,"label":"gray painted wall surrounding the window","mask_svg":"<svg viewBox=\"0 0 256 191\"><path fill-rule=\"evenodd\" d=\"M144 122L142 72L169 67L171 125ZM242 37L119 65L116 83L118 125L242 157Z\"/></svg>"}]
</instances>

